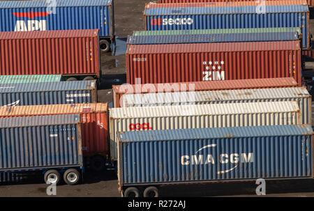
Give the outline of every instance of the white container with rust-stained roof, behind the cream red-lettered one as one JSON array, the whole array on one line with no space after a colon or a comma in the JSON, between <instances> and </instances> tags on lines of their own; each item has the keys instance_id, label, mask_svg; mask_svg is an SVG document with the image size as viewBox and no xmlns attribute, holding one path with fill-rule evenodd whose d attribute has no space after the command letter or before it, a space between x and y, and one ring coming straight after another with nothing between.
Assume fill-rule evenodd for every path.
<instances>
[{"instance_id":1,"label":"white container with rust-stained roof, behind the cream red-lettered one","mask_svg":"<svg viewBox=\"0 0 314 211\"><path fill-rule=\"evenodd\" d=\"M301 111L301 124L312 123L312 97L305 87L123 95L121 107L276 101L296 101Z\"/></svg>"}]
</instances>

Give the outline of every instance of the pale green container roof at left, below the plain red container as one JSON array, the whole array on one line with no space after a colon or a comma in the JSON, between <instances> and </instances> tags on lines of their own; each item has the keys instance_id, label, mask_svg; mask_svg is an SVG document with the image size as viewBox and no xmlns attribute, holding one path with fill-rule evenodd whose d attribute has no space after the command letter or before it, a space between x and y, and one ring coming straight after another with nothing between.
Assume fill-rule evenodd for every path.
<instances>
[{"instance_id":1,"label":"pale green container roof at left, below the plain red container","mask_svg":"<svg viewBox=\"0 0 314 211\"><path fill-rule=\"evenodd\" d=\"M0 84L59 82L61 75L0 75Z\"/></svg>"}]
</instances>

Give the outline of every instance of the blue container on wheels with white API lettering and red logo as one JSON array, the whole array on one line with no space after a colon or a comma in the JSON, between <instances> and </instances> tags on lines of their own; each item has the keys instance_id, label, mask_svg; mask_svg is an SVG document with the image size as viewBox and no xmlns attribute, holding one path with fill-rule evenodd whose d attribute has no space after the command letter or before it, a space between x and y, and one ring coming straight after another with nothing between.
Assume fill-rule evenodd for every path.
<instances>
[{"instance_id":1,"label":"blue container on wheels with white API lettering and red logo","mask_svg":"<svg viewBox=\"0 0 314 211\"><path fill-rule=\"evenodd\" d=\"M107 52L114 40L113 6L112 0L0 1L0 31L99 29L100 49Z\"/></svg>"}]
</instances>

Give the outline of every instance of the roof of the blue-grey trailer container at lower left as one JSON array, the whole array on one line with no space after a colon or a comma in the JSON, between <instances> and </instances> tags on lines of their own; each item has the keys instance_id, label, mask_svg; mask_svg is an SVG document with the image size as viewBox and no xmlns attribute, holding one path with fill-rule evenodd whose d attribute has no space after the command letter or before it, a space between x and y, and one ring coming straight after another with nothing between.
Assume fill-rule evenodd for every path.
<instances>
[{"instance_id":1,"label":"roof of the blue-grey trailer container at lower left","mask_svg":"<svg viewBox=\"0 0 314 211\"><path fill-rule=\"evenodd\" d=\"M0 118L0 128L69 125L77 123L80 123L80 115L78 114Z\"/></svg>"}]
</instances>

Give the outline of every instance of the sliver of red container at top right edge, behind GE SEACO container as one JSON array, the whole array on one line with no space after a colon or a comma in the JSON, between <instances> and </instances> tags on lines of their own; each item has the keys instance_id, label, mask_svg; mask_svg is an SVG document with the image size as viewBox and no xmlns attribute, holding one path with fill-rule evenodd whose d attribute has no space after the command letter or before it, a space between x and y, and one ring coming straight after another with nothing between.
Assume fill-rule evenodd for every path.
<instances>
[{"instance_id":1,"label":"sliver of red container at top right edge, behind GE SEACO container","mask_svg":"<svg viewBox=\"0 0 314 211\"><path fill-rule=\"evenodd\" d=\"M229 6L232 6L232 2L255 2L257 5L261 4L261 1L257 2L256 0L159 0L158 3L214 3L214 2L226 2L230 3ZM276 1L277 5L297 5L297 4L308 4L308 6L314 6L314 0L267 0L265 5L268 5L268 1ZM297 1L297 3L295 3Z\"/></svg>"}]
</instances>

